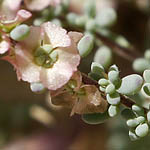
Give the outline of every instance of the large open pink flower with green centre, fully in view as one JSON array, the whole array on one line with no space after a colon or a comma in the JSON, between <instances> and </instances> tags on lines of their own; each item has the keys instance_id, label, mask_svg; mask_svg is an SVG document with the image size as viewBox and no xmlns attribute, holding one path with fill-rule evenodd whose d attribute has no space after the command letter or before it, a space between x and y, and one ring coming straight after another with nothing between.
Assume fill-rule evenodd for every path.
<instances>
[{"instance_id":1,"label":"large open pink flower with green centre, fully in view","mask_svg":"<svg viewBox=\"0 0 150 150\"><path fill-rule=\"evenodd\" d=\"M80 56L77 42L81 33L69 32L50 22L31 27L30 35L19 42L13 57L4 59L14 65L18 79L29 83L41 82L49 90L66 84L77 71Z\"/></svg>"}]
</instances>

